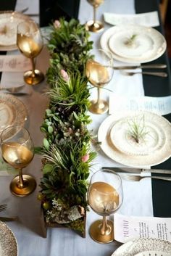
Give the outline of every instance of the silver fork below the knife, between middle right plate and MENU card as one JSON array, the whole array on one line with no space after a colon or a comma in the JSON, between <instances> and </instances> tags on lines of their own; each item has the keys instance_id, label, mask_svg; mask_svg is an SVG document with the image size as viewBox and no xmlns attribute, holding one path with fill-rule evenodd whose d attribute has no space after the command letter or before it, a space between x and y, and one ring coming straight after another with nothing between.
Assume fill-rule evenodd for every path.
<instances>
[{"instance_id":1,"label":"silver fork below the knife, between middle right plate and MENU card","mask_svg":"<svg viewBox=\"0 0 171 256\"><path fill-rule=\"evenodd\" d=\"M120 173L120 177L125 179L126 181L141 181L143 178L154 178L163 181L171 181L171 177L169 176L139 176L128 173Z\"/></svg>"}]
</instances>

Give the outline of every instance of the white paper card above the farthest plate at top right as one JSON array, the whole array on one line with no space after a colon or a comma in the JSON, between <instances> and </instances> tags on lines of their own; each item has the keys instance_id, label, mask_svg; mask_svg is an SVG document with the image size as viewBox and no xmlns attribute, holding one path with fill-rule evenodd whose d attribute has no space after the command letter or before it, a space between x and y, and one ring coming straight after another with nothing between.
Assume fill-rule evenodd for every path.
<instances>
[{"instance_id":1,"label":"white paper card above the farthest plate at top right","mask_svg":"<svg viewBox=\"0 0 171 256\"><path fill-rule=\"evenodd\" d=\"M138 15L120 15L115 13L104 12L105 22L112 25L143 25L147 27L159 26L158 12L146 12Z\"/></svg>"}]
</instances>

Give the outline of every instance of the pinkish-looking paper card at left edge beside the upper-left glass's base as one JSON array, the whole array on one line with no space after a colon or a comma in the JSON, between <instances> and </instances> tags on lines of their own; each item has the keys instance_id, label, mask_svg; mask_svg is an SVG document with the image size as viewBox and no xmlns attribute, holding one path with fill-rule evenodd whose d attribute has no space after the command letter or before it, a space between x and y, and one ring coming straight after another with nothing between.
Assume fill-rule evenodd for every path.
<instances>
[{"instance_id":1,"label":"pinkish-looking paper card at left edge beside the upper-left glass's base","mask_svg":"<svg viewBox=\"0 0 171 256\"><path fill-rule=\"evenodd\" d=\"M31 69L30 59L23 55L1 55L0 72L22 72Z\"/></svg>"}]
</instances>

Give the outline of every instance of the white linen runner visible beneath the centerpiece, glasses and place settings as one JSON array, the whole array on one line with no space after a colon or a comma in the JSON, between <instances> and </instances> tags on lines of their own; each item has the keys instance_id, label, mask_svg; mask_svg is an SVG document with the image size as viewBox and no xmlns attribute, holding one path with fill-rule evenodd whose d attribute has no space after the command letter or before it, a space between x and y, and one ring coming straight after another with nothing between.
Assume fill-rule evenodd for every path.
<instances>
[{"instance_id":1,"label":"white linen runner visible beneath the centerpiece, glasses and place settings","mask_svg":"<svg viewBox=\"0 0 171 256\"><path fill-rule=\"evenodd\" d=\"M35 7L30 7L35 4ZM23 6L24 5L24 6ZM33 8L36 11L38 7L38 1L17 1L17 9L23 7ZM97 19L102 18L104 12L116 12L125 14L134 14L134 1L133 0L107 0L104 4L97 9ZM28 11L29 12L29 11ZM86 0L80 0L79 18L80 22L84 23L87 20L92 19L93 8ZM109 25L105 24L105 29L109 28ZM91 39L94 41L93 47L99 48L99 38L101 33L91 33ZM19 51L12 51L10 54L19 54ZM44 52L38 58L37 67L43 70L46 67L47 58L44 57ZM117 62L115 62L117 65ZM118 65L121 63L118 62ZM22 79L22 73L11 74L3 73L2 80ZM8 79L7 79L8 78ZM9 79L10 78L10 79ZM107 86L115 91L118 95L127 96L143 96L143 83L141 75L136 75L133 78L122 77L120 72L114 72L114 78ZM22 96L20 100L24 102L28 109L28 121L26 127L30 131L30 135L33 138L33 142L36 146L42 144L43 134L40 131L41 123L43 122L43 115L46 107L48 106L48 99L42 94L46 88L46 81L38 86L30 86L31 94L29 96ZM96 96L96 89L92 90L92 97ZM103 91L103 96L109 96L109 91ZM90 114L91 115L91 114ZM93 128L93 132L98 131L99 125L107 117L105 115L91 115L93 123L90 128ZM121 166L117 162L109 160L109 158L103 153L99 152L98 157L94 161L92 172L101 168L101 166ZM28 168L25 168L24 173L30 173L36 177L36 181L39 184L41 173L41 159L37 156L34 157L33 162L30 163ZM93 211L88 212L86 222L86 239L75 234L67 228L48 228L47 238L43 236L43 226L41 219L41 205L37 200L37 194L40 188L37 186L36 191L28 197L17 198L12 196L9 191L9 183L12 180L12 176L1 176L0 178L0 191L1 191L1 203L8 202L8 208L3 212L4 215L17 215L19 221L8 223L8 226L12 228L14 235L17 238L19 254L18 256L54 256L54 255L72 255L72 256L106 256L112 255L114 249L117 248L117 243L111 244L98 244L93 241L89 234L88 228L93 220L99 218ZM125 215L153 215L152 200L151 200L151 182L149 179L144 179L141 182L126 182L123 181L124 189L124 202L120 208L120 213Z\"/></svg>"}]
</instances>

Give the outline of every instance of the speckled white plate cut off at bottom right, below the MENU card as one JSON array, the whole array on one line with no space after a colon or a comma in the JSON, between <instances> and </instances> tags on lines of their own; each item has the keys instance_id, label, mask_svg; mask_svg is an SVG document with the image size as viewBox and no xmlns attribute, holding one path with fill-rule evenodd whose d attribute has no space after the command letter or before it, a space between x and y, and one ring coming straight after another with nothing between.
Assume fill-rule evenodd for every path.
<instances>
[{"instance_id":1,"label":"speckled white plate cut off at bottom right, below the MENU card","mask_svg":"<svg viewBox=\"0 0 171 256\"><path fill-rule=\"evenodd\" d=\"M156 253L162 252L162 256L169 256L171 255L171 243L160 239L134 239L122 244L121 247L116 249L112 256L147 256L143 253L149 251L155 251ZM157 256L161 255L157 254Z\"/></svg>"}]
</instances>

